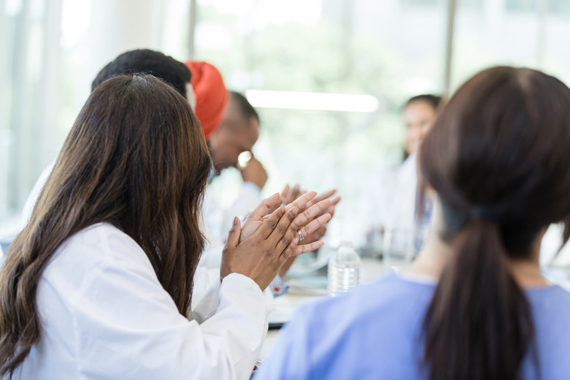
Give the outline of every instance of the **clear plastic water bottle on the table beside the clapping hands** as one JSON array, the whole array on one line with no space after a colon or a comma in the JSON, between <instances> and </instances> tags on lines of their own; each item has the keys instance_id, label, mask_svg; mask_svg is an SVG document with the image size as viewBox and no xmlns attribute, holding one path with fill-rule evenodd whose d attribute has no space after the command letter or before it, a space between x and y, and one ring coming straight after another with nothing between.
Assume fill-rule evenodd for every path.
<instances>
[{"instance_id":1,"label":"clear plastic water bottle on the table beside the clapping hands","mask_svg":"<svg viewBox=\"0 0 570 380\"><path fill-rule=\"evenodd\" d=\"M328 262L328 294L338 296L360 284L362 261L350 243L342 243Z\"/></svg>"}]
</instances>

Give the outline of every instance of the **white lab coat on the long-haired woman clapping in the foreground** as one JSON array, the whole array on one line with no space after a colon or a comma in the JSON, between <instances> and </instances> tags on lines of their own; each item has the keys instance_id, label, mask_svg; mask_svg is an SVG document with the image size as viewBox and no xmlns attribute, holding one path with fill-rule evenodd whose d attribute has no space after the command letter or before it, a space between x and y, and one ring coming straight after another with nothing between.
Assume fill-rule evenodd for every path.
<instances>
[{"instance_id":1,"label":"white lab coat on the long-haired woman clapping in the foreground","mask_svg":"<svg viewBox=\"0 0 570 380\"><path fill-rule=\"evenodd\" d=\"M212 282L190 320L143 249L109 224L72 236L38 285L40 341L15 379L249 379L267 333L253 280Z\"/></svg>"}]
</instances>

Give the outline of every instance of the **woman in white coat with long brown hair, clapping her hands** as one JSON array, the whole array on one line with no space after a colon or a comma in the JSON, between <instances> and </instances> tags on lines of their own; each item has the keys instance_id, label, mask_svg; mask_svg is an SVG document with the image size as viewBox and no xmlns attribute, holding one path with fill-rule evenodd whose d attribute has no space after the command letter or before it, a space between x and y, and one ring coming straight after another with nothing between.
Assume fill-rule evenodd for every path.
<instances>
[{"instance_id":1,"label":"woman in white coat with long brown hair, clapping her hands","mask_svg":"<svg viewBox=\"0 0 570 380\"><path fill-rule=\"evenodd\" d=\"M97 87L0 273L0 377L249 378L267 329L262 289L322 244L297 235L328 220L311 221L330 201L296 216L312 192L243 230L236 218L214 297L190 313L210 168L200 124L168 84L120 75Z\"/></svg>"}]
</instances>

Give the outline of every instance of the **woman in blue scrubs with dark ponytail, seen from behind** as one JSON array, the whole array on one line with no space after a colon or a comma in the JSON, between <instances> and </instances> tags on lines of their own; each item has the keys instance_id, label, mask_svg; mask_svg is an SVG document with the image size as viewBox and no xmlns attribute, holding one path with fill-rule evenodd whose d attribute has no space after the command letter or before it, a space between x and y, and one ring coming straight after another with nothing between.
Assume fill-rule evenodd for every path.
<instances>
[{"instance_id":1,"label":"woman in blue scrubs with dark ponytail, seen from behind","mask_svg":"<svg viewBox=\"0 0 570 380\"><path fill-rule=\"evenodd\" d=\"M257 379L570 379L570 293L540 241L570 236L570 90L527 68L467 81L420 149L435 224L404 274L307 306Z\"/></svg>"}]
</instances>

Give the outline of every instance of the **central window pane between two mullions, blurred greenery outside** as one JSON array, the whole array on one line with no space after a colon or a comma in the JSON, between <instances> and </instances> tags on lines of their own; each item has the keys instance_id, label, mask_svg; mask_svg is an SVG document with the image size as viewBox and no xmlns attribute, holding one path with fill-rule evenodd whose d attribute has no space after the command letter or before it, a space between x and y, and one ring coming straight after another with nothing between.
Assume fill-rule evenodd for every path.
<instances>
[{"instance_id":1,"label":"central window pane between two mullions, blurred greenery outside","mask_svg":"<svg viewBox=\"0 0 570 380\"><path fill-rule=\"evenodd\" d=\"M366 112L259 108L262 135L254 153L270 174L268 193L296 182L319 191L338 188L341 209L348 211L370 173L401 160L402 104L411 95L443 90L446 10L414 3L198 1L194 55L218 66L231 89L376 99L377 107ZM358 110L350 99L347 108ZM213 188L229 203L238 181L228 170ZM337 235L349 238L355 217L340 212Z\"/></svg>"}]
</instances>

